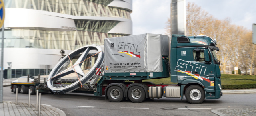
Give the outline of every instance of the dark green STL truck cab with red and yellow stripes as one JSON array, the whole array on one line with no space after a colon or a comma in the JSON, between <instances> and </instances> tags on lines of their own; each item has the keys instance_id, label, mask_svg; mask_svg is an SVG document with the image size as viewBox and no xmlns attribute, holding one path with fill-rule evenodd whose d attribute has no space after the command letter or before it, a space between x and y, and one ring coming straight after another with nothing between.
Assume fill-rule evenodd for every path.
<instances>
[{"instance_id":1,"label":"dark green STL truck cab with red and yellow stripes","mask_svg":"<svg viewBox=\"0 0 256 116\"><path fill-rule=\"evenodd\" d=\"M204 35L172 35L171 82L178 83L181 94L187 95L186 97L188 89L190 92L195 91L187 99L196 100L197 94L206 99L218 99L222 96L220 61L216 56L219 49L216 45L216 41ZM194 86L191 88L191 85ZM203 88L204 91L198 88Z\"/></svg>"}]
</instances>

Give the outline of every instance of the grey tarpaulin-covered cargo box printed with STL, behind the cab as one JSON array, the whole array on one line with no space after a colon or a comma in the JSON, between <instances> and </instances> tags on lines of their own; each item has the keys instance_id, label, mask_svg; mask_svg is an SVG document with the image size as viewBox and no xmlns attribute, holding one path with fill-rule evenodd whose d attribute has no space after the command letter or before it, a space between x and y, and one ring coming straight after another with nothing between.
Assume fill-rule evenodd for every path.
<instances>
[{"instance_id":1,"label":"grey tarpaulin-covered cargo box printed with STL, behind the cab","mask_svg":"<svg viewBox=\"0 0 256 116\"><path fill-rule=\"evenodd\" d=\"M105 72L162 72L169 37L142 34L105 39Z\"/></svg>"}]
</instances>

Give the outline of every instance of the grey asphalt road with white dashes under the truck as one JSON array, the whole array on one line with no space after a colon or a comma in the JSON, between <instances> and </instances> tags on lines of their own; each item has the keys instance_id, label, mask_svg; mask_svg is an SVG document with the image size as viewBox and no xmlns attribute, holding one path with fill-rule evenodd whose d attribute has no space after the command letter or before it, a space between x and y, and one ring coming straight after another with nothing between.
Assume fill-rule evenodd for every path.
<instances>
[{"instance_id":1,"label":"grey asphalt road with white dashes under the truck","mask_svg":"<svg viewBox=\"0 0 256 116\"><path fill-rule=\"evenodd\" d=\"M4 101L15 102L16 95L10 86L4 87ZM112 103L105 97L92 94L68 93L42 94L42 104L63 110L67 116L217 116L211 110L217 108L255 108L256 94L224 94L220 99L204 100L202 104L190 104L186 99L147 99L142 103L129 100ZM28 102L28 94L18 94L18 102ZM31 104L36 104L36 95L31 96Z\"/></svg>"}]
</instances>

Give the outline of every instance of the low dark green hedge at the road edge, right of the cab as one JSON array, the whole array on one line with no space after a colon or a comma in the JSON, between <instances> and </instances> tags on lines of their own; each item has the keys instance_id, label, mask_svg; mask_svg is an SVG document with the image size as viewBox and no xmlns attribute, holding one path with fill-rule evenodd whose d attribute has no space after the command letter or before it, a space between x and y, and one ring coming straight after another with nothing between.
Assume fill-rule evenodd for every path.
<instances>
[{"instance_id":1,"label":"low dark green hedge at the road edge, right of the cab","mask_svg":"<svg viewBox=\"0 0 256 116\"><path fill-rule=\"evenodd\" d=\"M249 89L256 88L256 84L222 85L222 89Z\"/></svg>"}]
</instances>

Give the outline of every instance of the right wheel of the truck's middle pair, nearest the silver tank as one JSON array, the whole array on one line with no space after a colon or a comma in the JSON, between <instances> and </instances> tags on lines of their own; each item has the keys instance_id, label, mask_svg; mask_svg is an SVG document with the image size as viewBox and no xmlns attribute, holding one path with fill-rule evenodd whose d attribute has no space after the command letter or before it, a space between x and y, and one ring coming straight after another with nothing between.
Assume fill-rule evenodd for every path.
<instances>
[{"instance_id":1,"label":"right wheel of the truck's middle pair, nearest the silver tank","mask_svg":"<svg viewBox=\"0 0 256 116\"><path fill-rule=\"evenodd\" d=\"M133 86L128 90L128 97L134 103L140 103L146 100L145 91L142 87Z\"/></svg>"}]
</instances>

